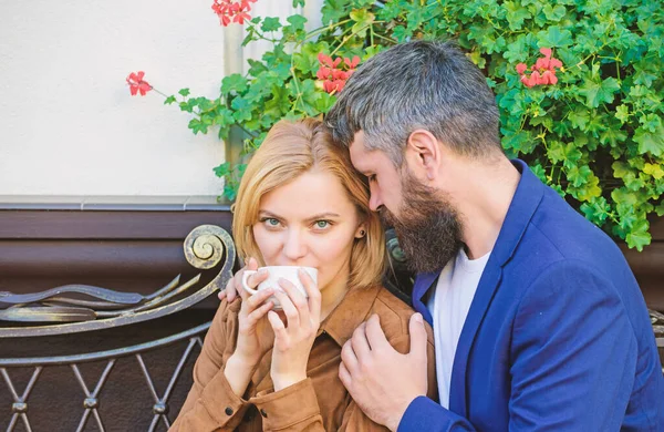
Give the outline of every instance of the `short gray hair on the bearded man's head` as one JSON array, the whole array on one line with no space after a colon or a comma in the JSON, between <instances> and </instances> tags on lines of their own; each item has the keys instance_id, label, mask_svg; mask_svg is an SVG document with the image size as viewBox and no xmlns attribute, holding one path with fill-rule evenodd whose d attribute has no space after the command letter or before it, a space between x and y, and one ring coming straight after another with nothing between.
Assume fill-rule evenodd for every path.
<instances>
[{"instance_id":1,"label":"short gray hair on the bearded man's head","mask_svg":"<svg viewBox=\"0 0 664 432\"><path fill-rule=\"evenodd\" d=\"M397 167L417 128L463 155L502 152L495 95L449 41L406 42L374 55L349 79L325 121L345 146L363 131L366 148L385 152Z\"/></svg>"}]
</instances>

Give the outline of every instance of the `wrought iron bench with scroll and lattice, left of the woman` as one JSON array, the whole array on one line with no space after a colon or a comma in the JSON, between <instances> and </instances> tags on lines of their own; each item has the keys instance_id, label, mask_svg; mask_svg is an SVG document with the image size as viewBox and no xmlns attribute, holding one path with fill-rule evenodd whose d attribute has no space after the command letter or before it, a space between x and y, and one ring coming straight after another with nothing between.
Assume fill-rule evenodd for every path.
<instances>
[{"instance_id":1,"label":"wrought iron bench with scroll and lattice, left of the woman","mask_svg":"<svg viewBox=\"0 0 664 432\"><path fill-rule=\"evenodd\" d=\"M0 327L2 346L7 348L13 342L14 352L18 350L38 352L32 357L12 356L10 358L6 357L6 349L0 353L0 373L7 384L6 389L0 392L3 394L0 401L4 401L7 395L11 398L9 419L7 416L8 407L4 403L0 416L3 422L8 419L8 431L21 429L32 431L31 418L39 414L50 416L49 430L51 431L72 430L71 423L66 425L65 418L75 419L76 431L87 429L100 431L145 430L145 424L137 424L135 414L129 418L122 415L131 405L138 402L132 398L132 394L139 393L135 389L141 387L147 390L152 397L152 403L142 405L144 414L142 418L152 418L147 429L155 431L166 430L170 426L170 421L184 401L183 394L186 394L191 385L190 368L203 346L201 338L210 326L209 320L175 335L92 352L76 351L76 343L73 343L73 347L69 347L73 352L55 356L51 352L44 354L39 353L39 347L35 348L33 342L37 341L39 346L39 341L44 338L60 338L60 341L66 338L71 341L83 339L84 336L93 332L114 329L131 333L136 331L136 326L141 323L168 319L200 302L224 287L231 277L236 251L231 237L222 228L212 225L195 228L184 241L184 253L191 266L200 270L220 267L218 274L203 287L199 284L200 274L184 284L180 284L178 276L149 296L82 285L69 285L27 295L0 292L0 308L2 308L0 319L10 322L9 327ZM209 317L206 318L209 319ZM31 344L32 348L30 348ZM81 343L81 346L90 347L91 343ZM158 353L159 350L169 346L176 346L180 351L177 366L173 370L162 368L165 370L160 370L160 377L155 377L154 371L151 374L146 357L154 352ZM53 346L51 344L51 347ZM125 362L124 370L115 372L120 361ZM90 379L84 379L83 369L90 364L96 366L97 370L87 371L87 373L100 376L94 385L91 385ZM70 380L53 385L56 388L63 384L80 387L80 398L74 404L68 405L68 403L56 400L58 393L62 395L68 393L62 388L52 389L53 385L40 388L49 369L62 367L71 369ZM127 374L127 368L139 370L143 382L136 382L136 376ZM18 374L22 374L23 381L27 381L23 388L17 383L14 376ZM164 384L165 379L168 381L162 385L163 390L157 390L159 388L157 381L162 381L160 383ZM102 402L104 395L108 397L116 391L105 393L104 390L114 380L116 381L115 388L127 389L132 399L116 402L114 407L106 407ZM177 402L173 401L176 385L179 387L180 393ZM42 403L40 409L33 407L32 401L37 399L37 390L40 389L51 393L50 398L55 398L53 402L59 403L46 403L46 407L43 407ZM52 409L53 405L69 409L66 412L62 412L59 409ZM105 409L101 409L101 407ZM148 412L145 412L146 410ZM91 416L94 418L92 422ZM49 423L49 421L41 420L40 423Z\"/></svg>"}]
</instances>

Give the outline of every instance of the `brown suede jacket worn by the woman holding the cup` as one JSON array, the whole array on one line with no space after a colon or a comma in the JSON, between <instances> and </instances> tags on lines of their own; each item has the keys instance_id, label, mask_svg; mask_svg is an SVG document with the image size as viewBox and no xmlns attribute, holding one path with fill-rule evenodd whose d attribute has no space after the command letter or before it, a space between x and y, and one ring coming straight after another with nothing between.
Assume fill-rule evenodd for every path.
<instances>
[{"instance_id":1,"label":"brown suede jacket worn by the woman holding the cup","mask_svg":"<svg viewBox=\"0 0 664 432\"><path fill-rule=\"evenodd\" d=\"M321 323L308 364L308 379L274 391L272 351L258 364L245 398L234 393L224 376L238 335L240 301L221 302L194 367L194 385L172 432L207 431L386 431L355 404L339 379L341 348L355 328L377 313L390 343L409 349L413 309L382 287L351 290ZM437 398L433 331L428 335L428 397ZM395 371L398 373L398 371ZM385 377L390 379L390 377Z\"/></svg>"}]
</instances>

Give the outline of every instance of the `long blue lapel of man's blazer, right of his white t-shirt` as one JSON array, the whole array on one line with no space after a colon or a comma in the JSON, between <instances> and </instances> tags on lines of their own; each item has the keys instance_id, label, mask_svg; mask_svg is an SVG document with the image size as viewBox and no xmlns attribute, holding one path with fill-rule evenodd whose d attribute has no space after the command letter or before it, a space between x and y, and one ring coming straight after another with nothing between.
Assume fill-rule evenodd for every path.
<instances>
[{"instance_id":1,"label":"long blue lapel of man's blazer, right of his white t-shirt","mask_svg":"<svg viewBox=\"0 0 664 432\"><path fill-rule=\"evenodd\" d=\"M494 250L479 279L479 285L470 304L468 317L464 323L454 357L449 387L449 410L461 416L467 416L468 414L466 404L468 354L473 348L479 326L500 286L502 267L515 254L544 193L544 185L530 172L523 162L515 160L512 163L521 172L521 179L500 228L498 239L494 245Z\"/></svg>"}]
</instances>

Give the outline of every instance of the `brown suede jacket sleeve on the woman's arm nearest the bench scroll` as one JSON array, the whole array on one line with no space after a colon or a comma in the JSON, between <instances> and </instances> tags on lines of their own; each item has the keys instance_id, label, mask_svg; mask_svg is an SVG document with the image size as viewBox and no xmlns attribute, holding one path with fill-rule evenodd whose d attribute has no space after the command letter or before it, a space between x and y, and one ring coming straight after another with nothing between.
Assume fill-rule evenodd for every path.
<instances>
[{"instance_id":1,"label":"brown suede jacket sleeve on the woman's arm nearest the bench scroll","mask_svg":"<svg viewBox=\"0 0 664 432\"><path fill-rule=\"evenodd\" d=\"M237 337L232 309L226 300L219 305L194 366L194 384L169 432L232 431L242 421L248 403L235 394L224 374L235 348L227 338Z\"/></svg>"}]
</instances>

